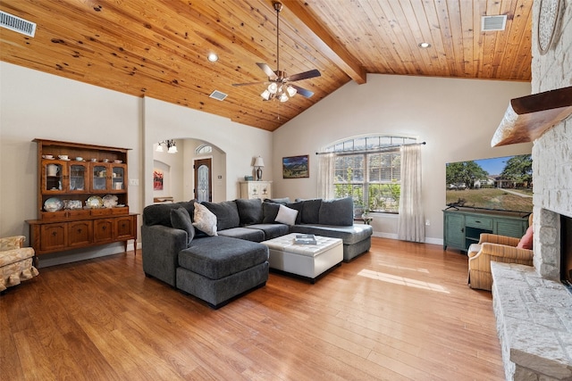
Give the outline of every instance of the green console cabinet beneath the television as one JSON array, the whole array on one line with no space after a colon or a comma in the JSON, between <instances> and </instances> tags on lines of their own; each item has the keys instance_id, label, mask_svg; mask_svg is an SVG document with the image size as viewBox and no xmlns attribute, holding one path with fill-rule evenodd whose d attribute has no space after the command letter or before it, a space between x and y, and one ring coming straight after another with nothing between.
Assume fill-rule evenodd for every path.
<instances>
[{"instance_id":1,"label":"green console cabinet beneath the television","mask_svg":"<svg viewBox=\"0 0 572 381\"><path fill-rule=\"evenodd\" d=\"M443 211L443 250L447 247L467 252L479 242L481 233L520 238L528 228L526 212L446 209Z\"/></svg>"}]
</instances>

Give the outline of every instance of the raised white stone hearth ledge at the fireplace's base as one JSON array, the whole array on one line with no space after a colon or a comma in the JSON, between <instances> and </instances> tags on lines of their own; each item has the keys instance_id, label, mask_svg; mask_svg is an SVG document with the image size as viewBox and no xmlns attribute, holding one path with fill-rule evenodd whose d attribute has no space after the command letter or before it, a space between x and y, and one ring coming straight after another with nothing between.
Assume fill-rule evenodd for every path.
<instances>
[{"instance_id":1,"label":"raised white stone hearth ledge at the fireplace's base","mask_svg":"<svg viewBox=\"0 0 572 381\"><path fill-rule=\"evenodd\" d=\"M572 294L531 266L492 262L507 379L572 380Z\"/></svg>"}]
</instances>

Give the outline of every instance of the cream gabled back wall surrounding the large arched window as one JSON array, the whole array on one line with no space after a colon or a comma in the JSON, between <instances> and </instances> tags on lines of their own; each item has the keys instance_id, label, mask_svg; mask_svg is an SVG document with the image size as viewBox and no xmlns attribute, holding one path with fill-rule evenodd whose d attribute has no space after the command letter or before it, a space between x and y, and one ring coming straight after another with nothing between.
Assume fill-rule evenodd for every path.
<instances>
[{"instance_id":1,"label":"cream gabled back wall surrounding the large arched window","mask_svg":"<svg viewBox=\"0 0 572 381\"><path fill-rule=\"evenodd\" d=\"M530 84L475 79L367 75L350 82L273 133L275 197L316 196L316 152L346 137L405 134L423 146L427 242L442 243L445 163L531 153L532 145L491 148L491 138L511 98ZM310 154L310 178L282 178L282 157ZM397 217L375 215L375 236L397 236Z\"/></svg>"}]
</instances>

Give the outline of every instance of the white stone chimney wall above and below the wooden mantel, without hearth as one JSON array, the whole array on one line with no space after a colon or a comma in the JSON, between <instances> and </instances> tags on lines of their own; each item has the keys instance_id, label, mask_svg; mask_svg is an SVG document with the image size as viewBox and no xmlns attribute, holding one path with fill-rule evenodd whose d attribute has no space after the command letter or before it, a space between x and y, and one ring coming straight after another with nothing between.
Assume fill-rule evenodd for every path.
<instances>
[{"instance_id":1,"label":"white stone chimney wall above and below the wooden mantel, without hearth","mask_svg":"<svg viewBox=\"0 0 572 381\"><path fill-rule=\"evenodd\" d=\"M561 0L564 14L559 37L548 53L537 44L537 14L533 9L533 93L572 86L572 0ZM559 216L572 217L572 118L534 142L534 268L543 277L559 278Z\"/></svg>"}]
</instances>

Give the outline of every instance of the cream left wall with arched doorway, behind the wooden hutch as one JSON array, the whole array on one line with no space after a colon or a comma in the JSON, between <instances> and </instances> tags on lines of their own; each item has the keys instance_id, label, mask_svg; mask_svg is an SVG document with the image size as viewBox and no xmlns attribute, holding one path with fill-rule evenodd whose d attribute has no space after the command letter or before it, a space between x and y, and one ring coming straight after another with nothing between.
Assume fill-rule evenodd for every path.
<instances>
[{"instance_id":1,"label":"cream left wall with arched doorway, behind the wooden hutch","mask_svg":"<svg viewBox=\"0 0 572 381\"><path fill-rule=\"evenodd\" d=\"M26 219L38 218L36 137L130 148L130 211L153 203L153 144L197 137L227 154L225 199L252 173L252 158L268 158L272 133L150 98L124 95L0 62L0 236L29 237ZM228 176L226 175L228 173ZM266 173L271 175L271 171ZM139 218L139 224L140 224ZM44 254L40 267L122 252L122 244Z\"/></svg>"}]
</instances>

